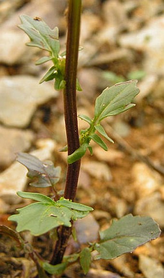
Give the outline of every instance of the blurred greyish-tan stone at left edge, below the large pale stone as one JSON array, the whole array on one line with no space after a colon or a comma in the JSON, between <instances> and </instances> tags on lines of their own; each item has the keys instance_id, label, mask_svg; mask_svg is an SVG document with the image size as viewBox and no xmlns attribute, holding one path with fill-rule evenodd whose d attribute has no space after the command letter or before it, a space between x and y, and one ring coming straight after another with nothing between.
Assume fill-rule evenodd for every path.
<instances>
[{"instance_id":1,"label":"blurred greyish-tan stone at left edge, below the large pale stone","mask_svg":"<svg viewBox=\"0 0 164 278\"><path fill-rule=\"evenodd\" d=\"M19 151L27 151L34 139L32 131L0 126L0 167L9 166Z\"/></svg>"}]
</instances>

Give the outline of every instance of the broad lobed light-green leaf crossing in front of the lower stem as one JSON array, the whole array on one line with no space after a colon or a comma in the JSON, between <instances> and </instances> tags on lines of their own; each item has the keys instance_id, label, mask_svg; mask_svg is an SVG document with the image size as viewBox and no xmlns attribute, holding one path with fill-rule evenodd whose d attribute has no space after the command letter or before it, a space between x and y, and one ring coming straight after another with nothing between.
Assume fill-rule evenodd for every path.
<instances>
[{"instance_id":1,"label":"broad lobed light-green leaf crossing in front of the lower stem","mask_svg":"<svg viewBox=\"0 0 164 278\"><path fill-rule=\"evenodd\" d=\"M17 222L16 230L18 232L29 230L35 236L60 225L71 227L71 220L83 218L89 211L93 210L82 204L75 203L73 205L71 201L63 198L55 202L39 193L18 192L18 195L39 202L18 209L18 214L11 215L8 219Z\"/></svg>"}]
</instances>

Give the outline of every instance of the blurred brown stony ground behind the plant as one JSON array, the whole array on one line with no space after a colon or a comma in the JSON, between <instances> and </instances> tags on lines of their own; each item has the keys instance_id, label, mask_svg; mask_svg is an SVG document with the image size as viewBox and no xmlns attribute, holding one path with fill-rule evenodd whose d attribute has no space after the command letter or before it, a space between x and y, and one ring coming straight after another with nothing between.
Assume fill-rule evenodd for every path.
<instances>
[{"instance_id":1,"label":"blurred brown stony ground behind the plant","mask_svg":"<svg viewBox=\"0 0 164 278\"><path fill-rule=\"evenodd\" d=\"M112 218L120 218L128 213L153 217L162 232L158 239L138 247L131 254L114 260L92 262L87 275L82 273L79 263L74 263L61 277L164 278L164 1L83 0L82 5L80 45L83 49L79 51L78 78L83 91L77 93L78 114L92 116L96 97L105 87L116 82L138 79L140 93L134 108L104 120L103 126L115 142L106 142L109 151L105 152L93 144L93 156L88 152L82 158L76 201L92 206L95 210L92 219L86 219L83 226L79 224L80 228L77 225L77 230L80 230L77 234L79 243L75 244L70 239L67 254L87 241L96 240L97 227L105 229ZM60 30L61 48L64 49L66 7L65 0L41 0L41 4L38 0L1 0L0 34L3 35L5 30L6 36L8 33L10 37L11 26L19 23L18 16L21 14L40 16L51 27L55 21ZM14 30L12 32L17 32ZM42 52L25 47L22 41L19 43L23 50L19 50L18 54L18 44L14 45L14 40L9 41L9 46L6 44L6 52L10 52L11 49L7 48L11 45L13 49L9 60L4 59L9 55L5 56L5 52L0 56L0 80L26 75L35 77L39 82L48 68L46 65L34 65ZM4 49L4 46L2 48L0 45L0 49ZM0 91L3 91L2 83ZM6 103L3 95L0 98L2 103ZM10 107L6 106L6 110ZM11 115L12 119L17 116L18 110ZM17 141L16 151L35 151L40 148L38 142L44 140L55 142L51 159L55 166L60 165L62 168L57 188L64 188L66 154L58 151L66 145L62 94L38 102L31 117L22 126L8 124L0 114L0 126L5 128L7 138L12 129L32 132L32 139L23 150L19 138L14 137ZM84 126L79 119L80 129ZM6 139L6 145L0 149L0 224L13 229L15 225L7 220L8 216L15 213L16 208L29 203L17 202L17 187L11 189L10 184L10 192L6 186L4 194L7 181L4 182L3 177L14 164L14 144L13 141L8 145ZM10 155L6 151L6 156L11 157L7 162L3 159L5 148L10 149ZM51 194L49 188L36 189L28 183L29 180L26 180L21 190ZM90 227L89 223L92 223ZM50 259L53 243L48 233L32 237L24 232L23 236L44 259ZM0 235L0 278L34 278L36 275L36 267L25 251L9 237Z\"/></svg>"}]
</instances>

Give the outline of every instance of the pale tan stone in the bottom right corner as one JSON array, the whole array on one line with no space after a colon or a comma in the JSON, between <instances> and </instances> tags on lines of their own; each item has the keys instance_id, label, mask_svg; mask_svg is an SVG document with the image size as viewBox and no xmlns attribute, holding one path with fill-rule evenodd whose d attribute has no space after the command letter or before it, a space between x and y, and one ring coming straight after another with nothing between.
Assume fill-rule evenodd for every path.
<instances>
[{"instance_id":1,"label":"pale tan stone in the bottom right corner","mask_svg":"<svg viewBox=\"0 0 164 278\"><path fill-rule=\"evenodd\" d=\"M162 264L145 255L139 255L139 269L146 278L164 278L164 268Z\"/></svg>"}]
</instances>

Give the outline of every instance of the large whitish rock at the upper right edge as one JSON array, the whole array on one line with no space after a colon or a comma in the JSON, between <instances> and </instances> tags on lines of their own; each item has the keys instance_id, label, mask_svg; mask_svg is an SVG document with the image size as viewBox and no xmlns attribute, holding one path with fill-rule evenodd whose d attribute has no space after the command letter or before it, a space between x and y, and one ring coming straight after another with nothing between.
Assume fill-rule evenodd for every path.
<instances>
[{"instance_id":1,"label":"large whitish rock at the upper right edge","mask_svg":"<svg viewBox=\"0 0 164 278\"><path fill-rule=\"evenodd\" d=\"M119 42L128 47L145 53L144 69L155 74L164 74L164 16L149 21L141 30L123 34Z\"/></svg>"}]
</instances>

